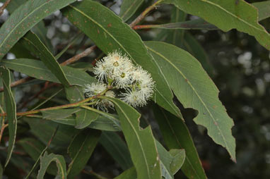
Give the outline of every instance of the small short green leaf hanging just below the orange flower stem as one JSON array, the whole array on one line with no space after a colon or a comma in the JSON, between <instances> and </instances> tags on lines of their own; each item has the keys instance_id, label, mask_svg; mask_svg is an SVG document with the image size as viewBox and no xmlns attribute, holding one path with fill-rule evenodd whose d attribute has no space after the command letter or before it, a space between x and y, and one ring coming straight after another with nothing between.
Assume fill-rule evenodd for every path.
<instances>
[{"instance_id":1,"label":"small short green leaf hanging just below the orange flower stem","mask_svg":"<svg viewBox=\"0 0 270 179\"><path fill-rule=\"evenodd\" d=\"M94 111L90 111L87 109L82 109L81 111L76 112L75 128L77 129L86 128L93 121L97 121L98 116L100 116L98 113L95 113Z\"/></svg>"}]
</instances>

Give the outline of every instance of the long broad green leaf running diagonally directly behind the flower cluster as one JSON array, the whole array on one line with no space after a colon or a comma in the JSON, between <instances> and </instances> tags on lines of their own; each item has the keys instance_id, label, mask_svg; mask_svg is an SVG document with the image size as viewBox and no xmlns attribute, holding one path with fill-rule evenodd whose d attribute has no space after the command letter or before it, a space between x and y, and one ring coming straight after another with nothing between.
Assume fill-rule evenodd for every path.
<instances>
[{"instance_id":1,"label":"long broad green leaf running diagonally directly behind the flower cluster","mask_svg":"<svg viewBox=\"0 0 270 179\"><path fill-rule=\"evenodd\" d=\"M180 110L172 102L172 92L160 67L148 54L139 35L131 30L129 25L123 23L121 18L98 2L89 0L72 4L64 8L63 13L103 52L120 50L123 54L127 54L134 63L148 70L156 85L153 99L171 113L181 116Z\"/></svg>"}]
</instances>

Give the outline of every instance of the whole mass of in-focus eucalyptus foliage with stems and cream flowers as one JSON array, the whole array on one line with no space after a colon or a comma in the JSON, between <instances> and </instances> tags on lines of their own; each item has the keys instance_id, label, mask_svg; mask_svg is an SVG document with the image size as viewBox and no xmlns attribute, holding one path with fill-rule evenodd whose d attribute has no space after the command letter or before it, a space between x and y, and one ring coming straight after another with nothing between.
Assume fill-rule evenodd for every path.
<instances>
[{"instance_id":1,"label":"whole mass of in-focus eucalyptus foliage with stems and cream flowers","mask_svg":"<svg viewBox=\"0 0 270 179\"><path fill-rule=\"evenodd\" d=\"M123 0L115 12L103 1L11 1L0 28L0 178L106 178L92 162L106 160L100 150L122 172L110 178L207 178L180 104L236 162L233 119L188 30L236 29L269 50L259 24L269 5ZM163 6L170 22L148 24Z\"/></svg>"}]
</instances>

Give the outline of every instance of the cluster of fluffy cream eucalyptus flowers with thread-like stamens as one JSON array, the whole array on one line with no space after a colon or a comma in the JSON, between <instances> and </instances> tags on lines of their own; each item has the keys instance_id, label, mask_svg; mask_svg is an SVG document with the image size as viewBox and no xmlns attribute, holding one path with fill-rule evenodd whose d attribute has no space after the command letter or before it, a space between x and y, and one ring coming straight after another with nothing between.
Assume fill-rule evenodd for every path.
<instances>
[{"instance_id":1,"label":"cluster of fluffy cream eucalyptus flowers with thread-like stamens","mask_svg":"<svg viewBox=\"0 0 270 179\"><path fill-rule=\"evenodd\" d=\"M155 82L151 74L141 66L131 63L128 56L114 51L95 63L93 73L99 82L86 85L86 97L102 94L106 97L119 97L131 106L144 106L153 96ZM115 94L115 92L117 95ZM113 108L107 99L97 99L96 106L102 111Z\"/></svg>"}]
</instances>

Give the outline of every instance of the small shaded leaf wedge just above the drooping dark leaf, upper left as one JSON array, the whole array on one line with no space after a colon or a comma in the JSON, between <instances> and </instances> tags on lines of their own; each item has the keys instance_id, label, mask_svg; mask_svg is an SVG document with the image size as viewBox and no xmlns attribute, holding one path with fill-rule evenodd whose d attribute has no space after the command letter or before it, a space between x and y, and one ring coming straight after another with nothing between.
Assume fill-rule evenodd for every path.
<instances>
[{"instance_id":1,"label":"small shaded leaf wedge just above the drooping dark leaf, upper left","mask_svg":"<svg viewBox=\"0 0 270 179\"><path fill-rule=\"evenodd\" d=\"M41 20L40 23L37 23L31 31L37 35L37 37L42 41L43 44L47 47L49 52L53 54L53 47L50 39L47 38L47 27L45 23Z\"/></svg>"}]
</instances>

